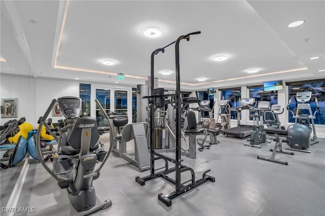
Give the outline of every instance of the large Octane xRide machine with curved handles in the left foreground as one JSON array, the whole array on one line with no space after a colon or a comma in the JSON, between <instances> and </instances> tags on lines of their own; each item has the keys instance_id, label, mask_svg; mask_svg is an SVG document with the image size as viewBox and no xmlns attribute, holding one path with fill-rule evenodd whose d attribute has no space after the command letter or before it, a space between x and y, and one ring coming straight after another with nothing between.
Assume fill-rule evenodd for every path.
<instances>
[{"instance_id":1,"label":"large Octane xRide machine with curved handles in the left foreground","mask_svg":"<svg viewBox=\"0 0 325 216\"><path fill-rule=\"evenodd\" d=\"M59 103L62 115L66 117L67 125L60 129L51 129L45 121L56 101ZM61 189L67 189L69 200L74 209L78 211L77 215L87 215L112 205L111 200L105 200L96 205L96 194L92 185L93 180L99 178L100 170L107 161L112 146L109 152L99 149L100 135L96 119L80 117L80 113L80 98L67 96L53 99L40 119L36 148L42 166L56 179ZM41 150L40 138L43 126L58 142L57 150L52 149L52 169L45 164ZM59 138L54 131L60 132ZM97 162L101 162L101 165L95 169Z\"/></svg>"}]
</instances>

